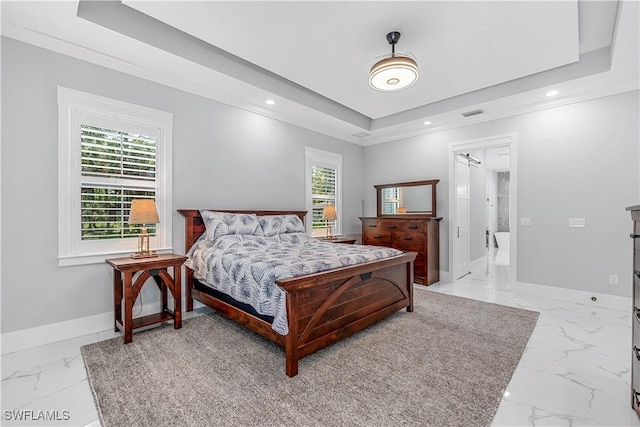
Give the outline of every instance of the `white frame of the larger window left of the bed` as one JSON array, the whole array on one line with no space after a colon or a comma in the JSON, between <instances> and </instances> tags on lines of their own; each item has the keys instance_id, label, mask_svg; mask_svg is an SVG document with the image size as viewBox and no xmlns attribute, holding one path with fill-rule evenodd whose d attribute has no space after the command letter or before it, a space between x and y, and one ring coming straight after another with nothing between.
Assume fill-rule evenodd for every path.
<instances>
[{"instance_id":1,"label":"white frame of the larger window left of the bed","mask_svg":"<svg viewBox=\"0 0 640 427\"><path fill-rule=\"evenodd\" d=\"M81 124L156 137L156 207L151 247L171 251L173 114L58 86L58 266L102 263L137 250L136 238L81 240Z\"/></svg>"}]
</instances>

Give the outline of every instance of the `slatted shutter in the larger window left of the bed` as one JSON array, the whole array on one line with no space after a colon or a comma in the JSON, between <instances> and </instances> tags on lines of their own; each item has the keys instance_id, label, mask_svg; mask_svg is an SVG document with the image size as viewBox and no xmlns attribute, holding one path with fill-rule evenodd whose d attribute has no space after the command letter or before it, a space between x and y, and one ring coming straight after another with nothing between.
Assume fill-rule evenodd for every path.
<instances>
[{"instance_id":1,"label":"slatted shutter in the larger window left of the bed","mask_svg":"<svg viewBox=\"0 0 640 427\"><path fill-rule=\"evenodd\" d=\"M81 239L135 237L133 199L154 199L156 138L81 125ZM147 231L155 235L156 226Z\"/></svg>"}]
</instances>

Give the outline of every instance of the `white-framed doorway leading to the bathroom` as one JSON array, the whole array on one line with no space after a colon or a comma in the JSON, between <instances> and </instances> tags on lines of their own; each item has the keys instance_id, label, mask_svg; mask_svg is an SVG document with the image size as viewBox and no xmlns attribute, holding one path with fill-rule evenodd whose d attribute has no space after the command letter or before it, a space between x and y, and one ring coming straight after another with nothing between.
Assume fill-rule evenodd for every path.
<instances>
[{"instance_id":1,"label":"white-framed doorway leading to the bathroom","mask_svg":"<svg viewBox=\"0 0 640 427\"><path fill-rule=\"evenodd\" d=\"M476 154L477 158L472 154ZM500 178L497 176L497 170L491 163L491 157L500 154L501 157L508 156L510 162L508 166L508 174L502 168ZM467 159L465 162L464 159ZM469 158L477 162L471 165ZM498 255L496 247L496 237L501 238L502 251L500 258L496 261L508 262L509 283L516 280L516 242L517 229L516 224L516 201L517 201L517 134L498 135L488 138L476 140L461 141L450 145L449 150L449 278L455 281L467 275L476 263L480 261L486 263L487 256L482 255L484 248L490 254ZM461 161L462 160L462 161ZM484 164L483 164L484 162ZM481 166L479 166L481 165ZM475 171L473 167L476 167ZM493 179L496 187L494 190L495 197L493 200L489 196L492 183L487 173L488 166L493 170ZM504 179L508 176L508 198L500 201L501 206L498 207L499 191L497 189L498 180L502 179L504 188ZM479 181L482 180L480 183ZM486 181L485 181L486 180ZM503 195L504 196L504 195ZM506 205L505 205L506 203ZM475 209L471 209L471 206ZM497 215L499 209L502 222L502 230L504 224L508 232L500 235L498 232L499 222ZM506 217L505 217L506 215ZM509 228L509 224L512 227ZM506 240L505 240L506 239ZM478 265L478 266L479 266Z\"/></svg>"}]
</instances>

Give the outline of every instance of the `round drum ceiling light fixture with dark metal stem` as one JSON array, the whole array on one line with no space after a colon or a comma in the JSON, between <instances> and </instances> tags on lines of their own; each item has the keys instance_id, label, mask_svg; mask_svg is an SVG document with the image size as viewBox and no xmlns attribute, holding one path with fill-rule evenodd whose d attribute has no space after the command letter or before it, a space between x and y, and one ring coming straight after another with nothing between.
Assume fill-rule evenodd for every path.
<instances>
[{"instance_id":1,"label":"round drum ceiling light fixture with dark metal stem","mask_svg":"<svg viewBox=\"0 0 640 427\"><path fill-rule=\"evenodd\" d=\"M407 88L418 80L418 64L407 54L396 54L400 33L387 34L391 56L376 62L369 72L369 85L375 90L389 92Z\"/></svg>"}]
</instances>

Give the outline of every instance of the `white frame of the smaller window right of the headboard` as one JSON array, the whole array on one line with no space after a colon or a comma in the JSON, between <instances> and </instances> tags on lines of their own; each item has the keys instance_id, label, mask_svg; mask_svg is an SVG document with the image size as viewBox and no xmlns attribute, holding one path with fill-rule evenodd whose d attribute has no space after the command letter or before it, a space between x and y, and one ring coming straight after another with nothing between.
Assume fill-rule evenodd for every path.
<instances>
[{"instance_id":1,"label":"white frame of the smaller window right of the headboard","mask_svg":"<svg viewBox=\"0 0 640 427\"><path fill-rule=\"evenodd\" d=\"M305 147L305 208L307 216L305 225L307 234L313 236L313 193L312 193L312 171L313 166L320 166L334 169L336 171L336 216L335 227L332 227L332 234L339 236L342 234L342 155L330 151L319 150L317 148Z\"/></svg>"}]
</instances>

